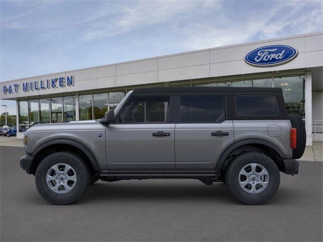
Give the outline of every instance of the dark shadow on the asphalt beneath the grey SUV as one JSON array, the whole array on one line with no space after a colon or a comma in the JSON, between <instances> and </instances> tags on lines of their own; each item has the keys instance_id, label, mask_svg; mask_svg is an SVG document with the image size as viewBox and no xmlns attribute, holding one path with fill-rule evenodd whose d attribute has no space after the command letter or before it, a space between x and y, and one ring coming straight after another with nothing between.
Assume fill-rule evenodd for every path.
<instances>
[{"instance_id":1,"label":"dark shadow on the asphalt beneath the grey SUV","mask_svg":"<svg viewBox=\"0 0 323 242\"><path fill-rule=\"evenodd\" d=\"M118 182L122 184L117 184ZM147 182L147 181L146 181ZM158 183L159 184L156 184ZM174 182L177 182L174 180ZM88 187L84 196L77 204L117 201L145 201L155 202L167 200L168 202L212 202L219 204L241 204L229 192L228 188L222 183L214 183L206 186L199 181L190 182L190 184L163 184L164 180L153 181L149 184L135 185L133 181L116 181L112 185L109 183L98 182ZM275 197L267 204L277 204L280 202L292 203L288 190L278 191Z\"/></svg>"}]
</instances>

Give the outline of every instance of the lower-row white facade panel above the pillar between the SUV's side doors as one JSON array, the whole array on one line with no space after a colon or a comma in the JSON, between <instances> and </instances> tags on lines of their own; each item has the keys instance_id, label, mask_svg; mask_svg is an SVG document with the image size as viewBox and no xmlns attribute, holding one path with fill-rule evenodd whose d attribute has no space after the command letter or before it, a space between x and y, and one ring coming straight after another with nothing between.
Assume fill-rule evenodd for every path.
<instances>
[{"instance_id":1,"label":"lower-row white facade panel above the pillar between the SUV's side doors","mask_svg":"<svg viewBox=\"0 0 323 242\"><path fill-rule=\"evenodd\" d=\"M170 82L209 77L209 65L175 68L159 71L159 82Z\"/></svg>"}]
</instances>

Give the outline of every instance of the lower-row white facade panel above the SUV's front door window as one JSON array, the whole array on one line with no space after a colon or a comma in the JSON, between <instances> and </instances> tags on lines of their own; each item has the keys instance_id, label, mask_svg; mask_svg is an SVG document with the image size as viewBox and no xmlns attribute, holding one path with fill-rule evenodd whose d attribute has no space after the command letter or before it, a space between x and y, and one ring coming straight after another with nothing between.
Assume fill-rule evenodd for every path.
<instances>
[{"instance_id":1,"label":"lower-row white facade panel above the SUV's front door window","mask_svg":"<svg viewBox=\"0 0 323 242\"><path fill-rule=\"evenodd\" d=\"M117 76L118 87L155 82L158 82L158 73L156 71Z\"/></svg>"}]
</instances>

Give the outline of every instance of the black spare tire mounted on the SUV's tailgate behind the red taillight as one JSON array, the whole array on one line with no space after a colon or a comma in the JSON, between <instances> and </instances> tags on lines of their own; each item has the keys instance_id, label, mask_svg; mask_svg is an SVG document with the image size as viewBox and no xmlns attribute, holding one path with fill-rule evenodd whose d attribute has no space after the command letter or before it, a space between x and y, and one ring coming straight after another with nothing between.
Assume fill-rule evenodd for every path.
<instances>
[{"instance_id":1,"label":"black spare tire mounted on the SUV's tailgate behind the red taillight","mask_svg":"<svg viewBox=\"0 0 323 242\"><path fill-rule=\"evenodd\" d=\"M293 149L293 158L302 157L306 147L306 130L305 123L300 115L289 114L289 119L293 128L296 128L296 148Z\"/></svg>"}]
</instances>

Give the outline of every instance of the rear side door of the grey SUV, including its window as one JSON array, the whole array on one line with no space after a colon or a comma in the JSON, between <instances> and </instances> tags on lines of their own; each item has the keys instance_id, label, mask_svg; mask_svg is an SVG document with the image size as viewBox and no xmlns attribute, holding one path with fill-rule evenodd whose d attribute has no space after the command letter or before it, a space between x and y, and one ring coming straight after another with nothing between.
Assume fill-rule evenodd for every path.
<instances>
[{"instance_id":1,"label":"rear side door of the grey SUV, including its window","mask_svg":"<svg viewBox=\"0 0 323 242\"><path fill-rule=\"evenodd\" d=\"M175 127L177 170L214 170L224 148L234 141L226 120L224 95L182 95Z\"/></svg>"}]
</instances>

